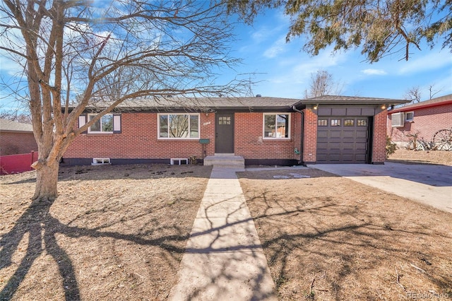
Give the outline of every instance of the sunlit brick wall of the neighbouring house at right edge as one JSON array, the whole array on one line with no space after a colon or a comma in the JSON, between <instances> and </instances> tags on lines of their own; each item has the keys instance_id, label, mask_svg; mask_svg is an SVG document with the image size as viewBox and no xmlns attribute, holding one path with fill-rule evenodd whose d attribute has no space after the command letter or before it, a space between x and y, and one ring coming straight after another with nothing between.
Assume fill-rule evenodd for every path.
<instances>
[{"instance_id":1,"label":"sunlit brick wall of the neighbouring house at right edge","mask_svg":"<svg viewBox=\"0 0 452 301\"><path fill-rule=\"evenodd\" d=\"M452 127L452 104L425 107L414 112L413 122L405 122L403 127L392 127L391 114L388 116L388 136L392 141L406 143L411 137L407 134L418 134L418 138L432 141L432 137L439 129L451 129Z\"/></svg>"}]
</instances>

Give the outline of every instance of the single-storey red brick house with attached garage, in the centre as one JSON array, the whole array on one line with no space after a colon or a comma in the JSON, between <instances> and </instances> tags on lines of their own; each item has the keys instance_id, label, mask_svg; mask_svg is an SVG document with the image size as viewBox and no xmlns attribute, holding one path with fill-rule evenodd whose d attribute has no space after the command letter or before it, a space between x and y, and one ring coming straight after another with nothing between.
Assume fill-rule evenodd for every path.
<instances>
[{"instance_id":1,"label":"single-storey red brick house with attached garage, in the centre","mask_svg":"<svg viewBox=\"0 0 452 301\"><path fill-rule=\"evenodd\" d=\"M76 137L61 163L179 164L228 154L245 165L383 164L386 107L403 102L346 96L134 101ZM90 112L95 108L78 126Z\"/></svg>"}]
</instances>

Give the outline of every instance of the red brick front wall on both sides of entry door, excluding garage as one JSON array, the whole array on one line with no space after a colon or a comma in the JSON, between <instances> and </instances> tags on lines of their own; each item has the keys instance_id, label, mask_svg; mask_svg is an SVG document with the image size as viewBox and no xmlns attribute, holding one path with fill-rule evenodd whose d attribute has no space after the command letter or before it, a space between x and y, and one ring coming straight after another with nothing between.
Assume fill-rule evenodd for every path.
<instances>
[{"instance_id":1,"label":"red brick front wall on both sides of entry door, excluding garage","mask_svg":"<svg viewBox=\"0 0 452 301\"><path fill-rule=\"evenodd\" d=\"M297 116L298 115L298 116ZM210 138L206 155L215 153L215 114L200 114L201 137ZM295 159L299 149L301 119L291 113L290 138L263 139L263 113L236 113L234 116L234 148L246 159ZM295 125L297 124L297 126ZM296 138L297 137L297 138ZM295 143L297 143L295 145ZM64 158L202 158L202 146L196 140L157 139L156 113L121 115L121 134L81 134L69 146Z\"/></svg>"}]
</instances>

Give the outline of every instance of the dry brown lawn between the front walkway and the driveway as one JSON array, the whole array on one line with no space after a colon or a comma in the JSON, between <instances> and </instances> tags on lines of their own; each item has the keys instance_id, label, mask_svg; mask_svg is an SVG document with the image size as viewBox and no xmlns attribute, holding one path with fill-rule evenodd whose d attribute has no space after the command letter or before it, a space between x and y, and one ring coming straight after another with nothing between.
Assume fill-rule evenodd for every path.
<instances>
[{"instance_id":1,"label":"dry brown lawn between the front walkway and the driveway","mask_svg":"<svg viewBox=\"0 0 452 301\"><path fill-rule=\"evenodd\" d=\"M451 214L327 172L291 173L239 173L280 300L452 298Z\"/></svg>"}]
</instances>

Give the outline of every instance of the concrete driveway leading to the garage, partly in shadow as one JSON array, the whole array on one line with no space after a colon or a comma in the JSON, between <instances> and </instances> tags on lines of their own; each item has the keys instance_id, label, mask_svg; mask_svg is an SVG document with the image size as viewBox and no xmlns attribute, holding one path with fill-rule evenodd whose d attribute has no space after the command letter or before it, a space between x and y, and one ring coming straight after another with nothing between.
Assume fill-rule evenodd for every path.
<instances>
[{"instance_id":1,"label":"concrete driveway leading to the garage, partly in shadow","mask_svg":"<svg viewBox=\"0 0 452 301\"><path fill-rule=\"evenodd\" d=\"M385 163L316 164L307 167L347 177L452 213L452 166Z\"/></svg>"}]
</instances>

